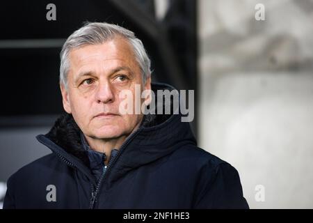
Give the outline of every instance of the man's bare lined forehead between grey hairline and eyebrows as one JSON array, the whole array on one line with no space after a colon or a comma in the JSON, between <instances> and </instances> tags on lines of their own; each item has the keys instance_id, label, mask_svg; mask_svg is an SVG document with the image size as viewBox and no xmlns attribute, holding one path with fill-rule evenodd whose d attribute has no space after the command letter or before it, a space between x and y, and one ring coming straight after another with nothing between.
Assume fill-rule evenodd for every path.
<instances>
[{"instance_id":1,"label":"man's bare lined forehead between grey hairline and eyebrows","mask_svg":"<svg viewBox=\"0 0 313 223\"><path fill-rule=\"evenodd\" d=\"M134 49L125 38L115 38L99 45L83 45L72 49L69 57L70 70L115 63L138 67Z\"/></svg>"}]
</instances>

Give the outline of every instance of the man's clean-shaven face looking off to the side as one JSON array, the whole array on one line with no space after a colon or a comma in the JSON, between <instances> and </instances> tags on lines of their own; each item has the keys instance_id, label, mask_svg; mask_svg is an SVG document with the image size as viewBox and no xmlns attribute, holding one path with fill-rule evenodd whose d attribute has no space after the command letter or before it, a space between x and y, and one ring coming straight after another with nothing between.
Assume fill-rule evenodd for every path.
<instances>
[{"instance_id":1,"label":"man's clean-shaven face looking off to the side","mask_svg":"<svg viewBox=\"0 0 313 223\"><path fill-rule=\"evenodd\" d=\"M135 95L135 84L141 85L141 91L151 89L151 80L143 86L141 69L127 40L115 38L72 49L69 58L67 91L61 84L63 107L83 133L95 139L115 139L133 132L143 115L120 114L123 99L119 93L129 90Z\"/></svg>"}]
</instances>

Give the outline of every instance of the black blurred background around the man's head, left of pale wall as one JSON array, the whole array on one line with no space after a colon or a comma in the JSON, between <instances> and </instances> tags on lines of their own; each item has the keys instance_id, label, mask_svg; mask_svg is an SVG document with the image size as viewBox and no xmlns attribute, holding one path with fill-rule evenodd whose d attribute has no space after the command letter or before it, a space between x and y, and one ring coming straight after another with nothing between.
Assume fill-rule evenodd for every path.
<instances>
[{"instance_id":1,"label":"black blurred background around the man's head, left of pale wall","mask_svg":"<svg viewBox=\"0 0 313 223\"><path fill-rule=\"evenodd\" d=\"M56 21L46 18L49 3L56 6ZM195 90L195 8L196 1L169 1L160 20L154 1L1 2L0 182L50 153L35 135L45 134L63 113L59 53L83 22L109 22L134 31L150 56L154 81ZM191 125L196 134L195 119Z\"/></svg>"}]
</instances>

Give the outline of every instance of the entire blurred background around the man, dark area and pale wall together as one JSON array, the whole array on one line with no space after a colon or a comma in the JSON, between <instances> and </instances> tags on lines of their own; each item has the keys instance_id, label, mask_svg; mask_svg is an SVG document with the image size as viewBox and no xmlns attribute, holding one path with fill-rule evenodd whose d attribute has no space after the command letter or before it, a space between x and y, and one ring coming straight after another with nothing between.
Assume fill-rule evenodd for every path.
<instances>
[{"instance_id":1,"label":"entire blurred background around the man, dark area and pale wall together","mask_svg":"<svg viewBox=\"0 0 313 223\"><path fill-rule=\"evenodd\" d=\"M63 113L58 55L86 21L131 29L154 81L195 90L198 145L239 171L250 208L313 208L312 0L6 1L0 17L0 208L50 153L35 136Z\"/></svg>"}]
</instances>

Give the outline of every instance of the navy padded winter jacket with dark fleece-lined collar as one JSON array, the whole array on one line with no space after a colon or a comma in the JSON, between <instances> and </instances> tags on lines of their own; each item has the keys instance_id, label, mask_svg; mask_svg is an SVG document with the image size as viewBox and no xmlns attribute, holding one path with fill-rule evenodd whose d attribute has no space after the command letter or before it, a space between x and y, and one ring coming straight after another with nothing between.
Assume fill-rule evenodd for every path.
<instances>
[{"instance_id":1,"label":"navy padded winter jacket with dark fleece-lined collar","mask_svg":"<svg viewBox=\"0 0 313 223\"><path fill-rule=\"evenodd\" d=\"M3 208L248 208L236 169L198 148L180 115L145 116L98 182L71 115L37 139L52 153L9 178Z\"/></svg>"}]
</instances>

